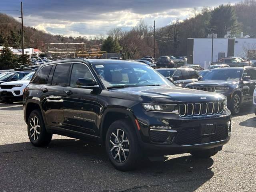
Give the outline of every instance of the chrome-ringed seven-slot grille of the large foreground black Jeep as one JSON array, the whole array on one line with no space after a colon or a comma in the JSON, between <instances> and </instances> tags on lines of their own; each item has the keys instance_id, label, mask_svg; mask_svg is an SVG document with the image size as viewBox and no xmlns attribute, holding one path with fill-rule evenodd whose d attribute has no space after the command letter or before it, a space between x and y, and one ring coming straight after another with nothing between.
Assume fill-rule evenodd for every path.
<instances>
[{"instance_id":1,"label":"chrome-ringed seven-slot grille of the large foreground black Jeep","mask_svg":"<svg viewBox=\"0 0 256 192\"><path fill-rule=\"evenodd\" d=\"M179 104L181 117L212 116L223 114L224 101Z\"/></svg>"}]
</instances>

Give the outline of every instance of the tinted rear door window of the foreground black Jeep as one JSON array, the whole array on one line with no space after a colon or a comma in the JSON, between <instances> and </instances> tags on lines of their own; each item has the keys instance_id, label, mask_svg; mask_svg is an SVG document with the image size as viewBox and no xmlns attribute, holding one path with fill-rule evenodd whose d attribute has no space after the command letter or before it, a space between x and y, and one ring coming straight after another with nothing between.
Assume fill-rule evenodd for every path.
<instances>
[{"instance_id":1,"label":"tinted rear door window of the foreground black Jeep","mask_svg":"<svg viewBox=\"0 0 256 192\"><path fill-rule=\"evenodd\" d=\"M56 68L52 77L52 85L67 86L69 68L70 68L70 64L56 65Z\"/></svg>"}]
</instances>

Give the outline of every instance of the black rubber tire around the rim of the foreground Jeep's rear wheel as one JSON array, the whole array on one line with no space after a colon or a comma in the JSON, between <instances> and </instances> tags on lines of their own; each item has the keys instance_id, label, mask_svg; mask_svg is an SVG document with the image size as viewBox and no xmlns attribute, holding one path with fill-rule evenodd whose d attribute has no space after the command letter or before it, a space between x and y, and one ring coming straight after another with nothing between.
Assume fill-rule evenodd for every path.
<instances>
[{"instance_id":1,"label":"black rubber tire around the rim of the foreground Jeep's rear wheel","mask_svg":"<svg viewBox=\"0 0 256 192\"><path fill-rule=\"evenodd\" d=\"M36 141L33 140L30 135L30 120L34 116L36 116L38 118L39 123L40 123L40 134L38 136L38 140L36 140ZM46 146L50 143L50 141L52 139L52 134L49 134L46 131L44 120L43 120L42 114L39 110L32 111L30 113L30 116L28 117L28 138L34 146Z\"/></svg>"}]
</instances>

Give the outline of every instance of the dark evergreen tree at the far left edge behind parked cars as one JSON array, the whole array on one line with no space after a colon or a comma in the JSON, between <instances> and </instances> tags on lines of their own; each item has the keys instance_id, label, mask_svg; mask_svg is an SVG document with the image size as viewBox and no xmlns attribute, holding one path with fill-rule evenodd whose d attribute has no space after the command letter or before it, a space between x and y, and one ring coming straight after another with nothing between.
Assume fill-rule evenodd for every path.
<instances>
[{"instance_id":1,"label":"dark evergreen tree at the far left edge behind parked cars","mask_svg":"<svg viewBox=\"0 0 256 192\"><path fill-rule=\"evenodd\" d=\"M0 51L0 69L14 69L14 54L8 48L8 44L4 44L4 48Z\"/></svg>"}]
</instances>

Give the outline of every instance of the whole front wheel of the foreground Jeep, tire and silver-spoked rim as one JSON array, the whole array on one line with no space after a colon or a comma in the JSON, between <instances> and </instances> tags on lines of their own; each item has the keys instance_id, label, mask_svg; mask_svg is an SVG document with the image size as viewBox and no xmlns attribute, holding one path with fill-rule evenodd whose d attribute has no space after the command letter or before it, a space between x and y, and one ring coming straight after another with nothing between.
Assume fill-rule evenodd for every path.
<instances>
[{"instance_id":1,"label":"whole front wheel of the foreground Jeep, tire and silver-spoked rim","mask_svg":"<svg viewBox=\"0 0 256 192\"><path fill-rule=\"evenodd\" d=\"M134 127L128 120L117 120L110 125L105 144L108 158L117 170L128 171L136 168L141 155Z\"/></svg>"}]
</instances>

